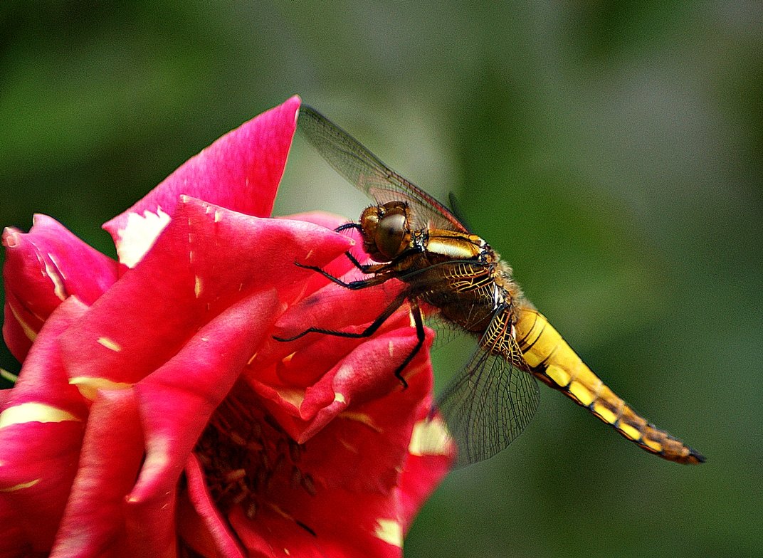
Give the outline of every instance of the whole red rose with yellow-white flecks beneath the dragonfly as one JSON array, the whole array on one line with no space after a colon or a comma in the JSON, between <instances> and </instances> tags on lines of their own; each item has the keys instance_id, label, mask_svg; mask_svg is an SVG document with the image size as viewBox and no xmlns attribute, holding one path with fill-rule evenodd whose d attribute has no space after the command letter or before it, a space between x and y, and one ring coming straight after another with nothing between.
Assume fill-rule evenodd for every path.
<instances>
[{"instance_id":1,"label":"whole red rose with yellow-white flecks beneath the dragonfly","mask_svg":"<svg viewBox=\"0 0 763 558\"><path fill-rule=\"evenodd\" d=\"M114 262L51 218L6 229L0 556L399 556L449 447L423 448L431 366L326 214L268 218L299 99L188 160L105 224Z\"/></svg>"}]
</instances>

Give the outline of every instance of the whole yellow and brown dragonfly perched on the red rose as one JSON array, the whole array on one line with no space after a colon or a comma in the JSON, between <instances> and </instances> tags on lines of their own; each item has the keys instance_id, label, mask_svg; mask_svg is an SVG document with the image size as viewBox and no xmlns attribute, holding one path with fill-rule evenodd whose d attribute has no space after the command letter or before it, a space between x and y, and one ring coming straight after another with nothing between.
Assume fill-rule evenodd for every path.
<instances>
[{"instance_id":1,"label":"whole yellow and brown dragonfly perched on the red rose","mask_svg":"<svg viewBox=\"0 0 763 558\"><path fill-rule=\"evenodd\" d=\"M373 200L356 229L374 263L346 253L363 279L345 282L317 266L347 289L367 289L398 279L403 288L363 331L310 327L294 337L319 333L370 337L407 304L417 344L395 376L423 346L424 321L471 336L475 350L460 373L436 398L458 454L455 466L486 460L504 450L525 429L539 405L538 382L562 392L643 450L676 463L705 458L678 438L649 423L591 371L513 279L510 266L481 237L431 195L404 179L358 140L314 108L302 105L298 129L333 169Z\"/></svg>"}]
</instances>

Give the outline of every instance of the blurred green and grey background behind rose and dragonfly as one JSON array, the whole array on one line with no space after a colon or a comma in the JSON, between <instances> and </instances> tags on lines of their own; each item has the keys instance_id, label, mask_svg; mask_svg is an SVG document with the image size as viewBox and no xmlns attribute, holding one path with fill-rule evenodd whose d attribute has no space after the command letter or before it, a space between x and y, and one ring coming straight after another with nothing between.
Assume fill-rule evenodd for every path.
<instances>
[{"instance_id":1,"label":"blurred green and grey background behind rose and dragonfly","mask_svg":"<svg viewBox=\"0 0 763 558\"><path fill-rule=\"evenodd\" d=\"M50 214L113 253L101 223L294 93L454 192L584 360L708 459L544 389L407 556L763 555L760 2L3 2L0 224ZM280 196L365 204L299 139Z\"/></svg>"}]
</instances>

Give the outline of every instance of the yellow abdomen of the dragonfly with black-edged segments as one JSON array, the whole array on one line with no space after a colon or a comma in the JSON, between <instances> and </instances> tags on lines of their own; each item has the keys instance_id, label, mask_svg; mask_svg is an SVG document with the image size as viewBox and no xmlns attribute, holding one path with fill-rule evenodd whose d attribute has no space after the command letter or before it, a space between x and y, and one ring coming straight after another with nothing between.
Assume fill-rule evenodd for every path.
<instances>
[{"instance_id":1,"label":"yellow abdomen of the dragonfly with black-edged segments","mask_svg":"<svg viewBox=\"0 0 763 558\"><path fill-rule=\"evenodd\" d=\"M620 434L666 460L702 463L704 457L649 424L609 389L538 311L518 308L517 344L530 371L578 405L588 408Z\"/></svg>"}]
</instances>

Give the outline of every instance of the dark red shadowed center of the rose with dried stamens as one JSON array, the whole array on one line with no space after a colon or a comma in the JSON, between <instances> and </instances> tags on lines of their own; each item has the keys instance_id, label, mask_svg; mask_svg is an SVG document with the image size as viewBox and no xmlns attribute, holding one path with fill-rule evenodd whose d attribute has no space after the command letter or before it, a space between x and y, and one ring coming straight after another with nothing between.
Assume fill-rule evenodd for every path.
<instances>
[{"instance_id":1,"label":"dark red shadowed center of the rose with dried stamens","mask_svg":"<svg viewBox=\"0 0 763 558\"><path fill-rule=\"evenodd\" d=\"M253 518L262 505L275 505L274 487L316 493L311 475L299 466L305 445L286 434L243 380L214 411L194 451L223 512L240 505Z\"/></svg>"}]
</instances>

